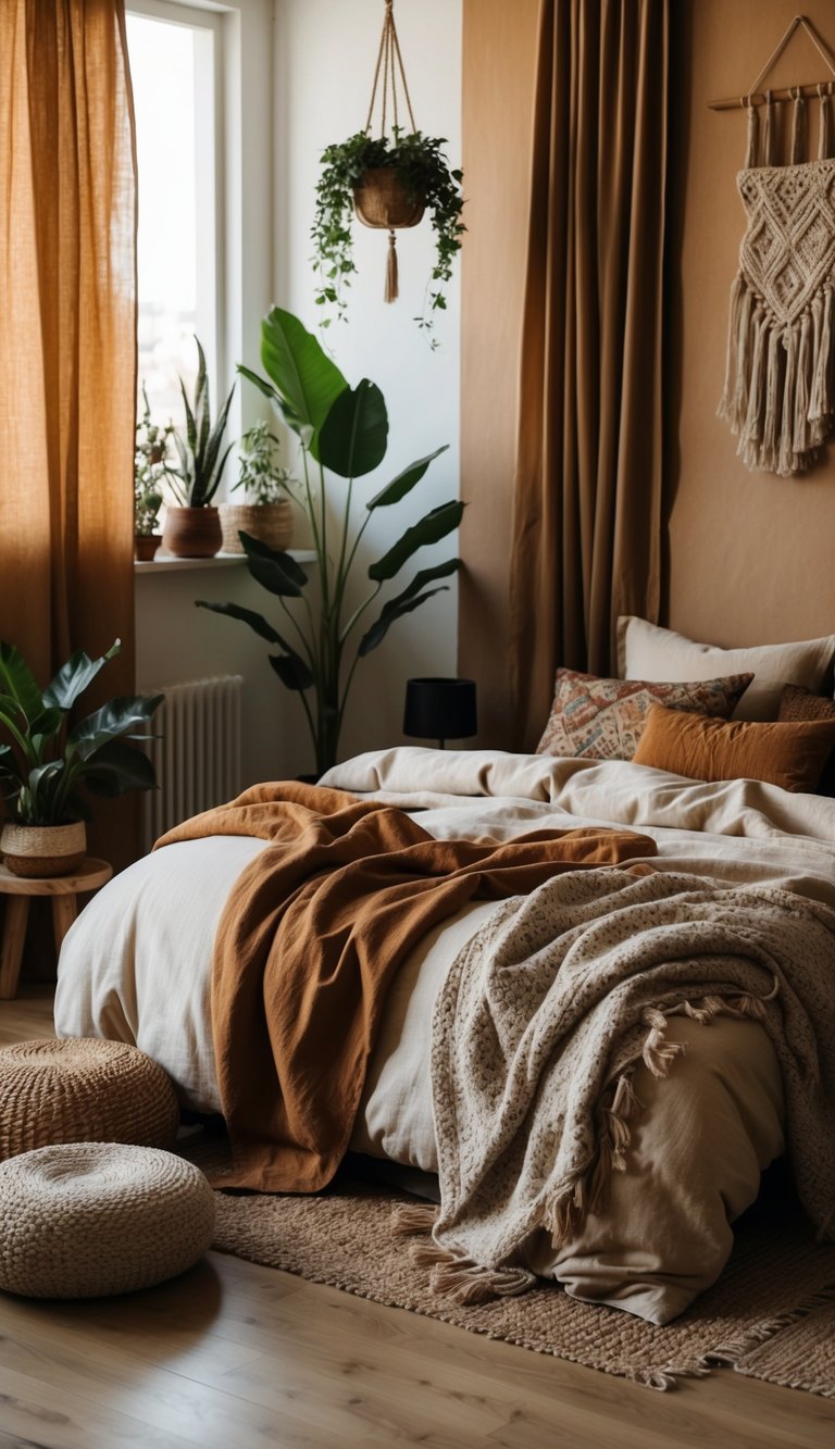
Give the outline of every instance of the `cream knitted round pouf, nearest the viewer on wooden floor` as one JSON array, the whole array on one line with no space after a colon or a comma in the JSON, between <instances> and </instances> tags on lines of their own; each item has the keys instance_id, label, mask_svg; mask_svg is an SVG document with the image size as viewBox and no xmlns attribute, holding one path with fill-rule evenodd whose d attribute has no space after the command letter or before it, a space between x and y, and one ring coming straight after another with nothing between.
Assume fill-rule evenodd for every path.
<instances>
[{"instance_id":1,"label":"cream knitted round pouf, nearest the viewer on wooden floor","mask_svg":"<svg viewBox=\"0 0 835 1449\"><path fill-rule=\"evenodd\" d=\"M199 1168L158 1148L71 1142L0 1162L0 1288L97 1298L191 1268L215 1232Z\"/></svg>"}]
</instances>

